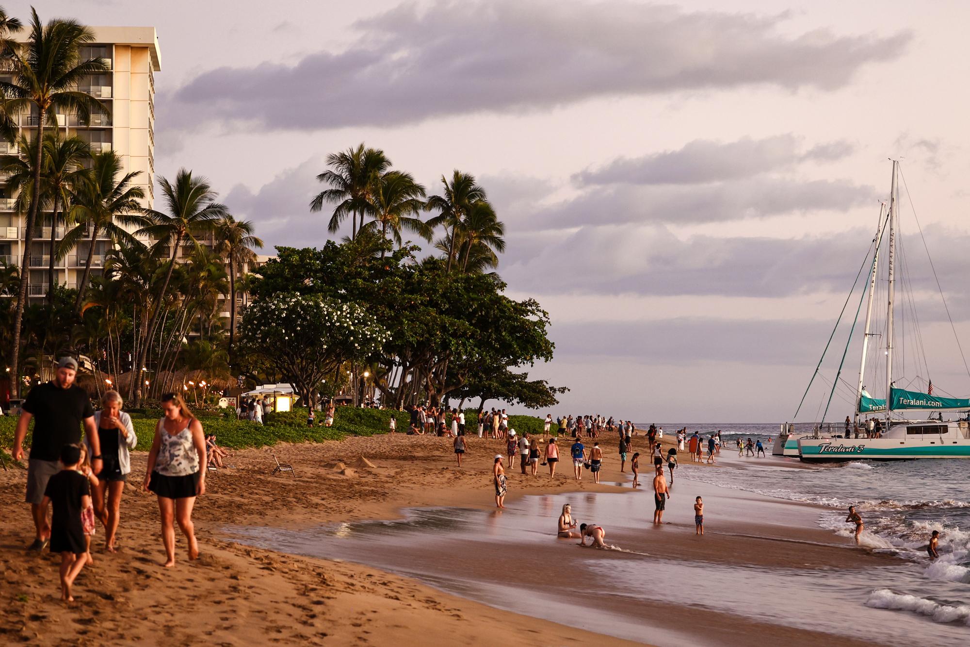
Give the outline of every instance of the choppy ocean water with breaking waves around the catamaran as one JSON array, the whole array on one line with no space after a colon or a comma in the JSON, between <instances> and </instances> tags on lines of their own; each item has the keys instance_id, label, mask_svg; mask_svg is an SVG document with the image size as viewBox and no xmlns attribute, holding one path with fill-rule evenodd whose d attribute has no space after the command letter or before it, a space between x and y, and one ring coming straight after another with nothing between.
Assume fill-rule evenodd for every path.
<instances>
[{"instance_id":1,"label":"choppy ocean water with breaking waves around the catamaran","mask_svg":"<svg viewBox=\"0 0 970 647\"><path fill-rule=\"evenodd\" d=\"M845 518L855 505L865 522L860 543L910 560L921 575L908 588L875 589L866 604L970 626L970 591L952 586L970 584L970 462L859 460L793 469L785 464L796 463L793 459L747 461L751 468L712 470L688 463L682 474L722 488L822 505L819 526L842 536L854 532ZM936 562L926 553L932 530L940 531Z\"/></svg>"}]
</instances>

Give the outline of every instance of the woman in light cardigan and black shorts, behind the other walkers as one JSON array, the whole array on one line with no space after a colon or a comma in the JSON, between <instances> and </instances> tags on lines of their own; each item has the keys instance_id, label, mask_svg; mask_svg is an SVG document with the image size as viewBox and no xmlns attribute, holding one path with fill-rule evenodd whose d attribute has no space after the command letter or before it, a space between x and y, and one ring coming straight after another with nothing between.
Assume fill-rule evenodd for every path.
<instances>
[{"instance_id":1,"label":"woman in light cardigan and black shorts, behind the other walkers","mask_svg":"<svg viewBox=\"0 0 970 647\"><path fill-rule=\"evenodd\" d=\"M131 472L130 451L138 444L131 416L121 411L122 404L118 392L105 392L101 396L101 410L94 412L94 425L98 427L98 438L101 440L103 467L97 475L98 485L91 488L91 498L94 501L94 514L105 525L105 550L110 553L115 548L114 535L120 519L121 493ZM86 434L84 443L87 443Z\"/></svg>"}]
</instances>

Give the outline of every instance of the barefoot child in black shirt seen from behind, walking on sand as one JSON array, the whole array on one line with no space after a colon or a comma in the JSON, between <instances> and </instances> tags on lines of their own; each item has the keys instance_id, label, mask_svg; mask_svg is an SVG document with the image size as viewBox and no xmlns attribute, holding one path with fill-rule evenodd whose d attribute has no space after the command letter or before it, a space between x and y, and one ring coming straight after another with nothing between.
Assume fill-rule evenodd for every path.
<instances>
[{"instance_id":1,"label":"barefoot child in black shirt seen from behind, walking on sand","mask_svg":"<svg viewBox=\"0 0 970 647\"><path fill-rule=\"evenodd\" d=\"M78 471L81 448L65 445L60 453L61 471L50 477L42 505L52 504L50 552L61 554L61 599L73 602L71 586L87 563L81 511L92 506L87 478Z\"/></svg>"}]
</instances>

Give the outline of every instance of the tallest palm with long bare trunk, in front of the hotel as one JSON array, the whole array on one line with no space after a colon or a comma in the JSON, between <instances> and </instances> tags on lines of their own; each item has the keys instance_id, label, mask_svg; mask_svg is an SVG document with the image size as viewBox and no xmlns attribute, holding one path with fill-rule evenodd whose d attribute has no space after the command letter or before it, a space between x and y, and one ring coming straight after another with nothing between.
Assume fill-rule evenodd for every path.
<instances>
[{"instance_id":1,"label":"tallest palm with long bare trunk, in front of the hotel","mask_svg":"<svg viewBox=\"0 0 970 647\"><path fill-rule=\"evenodd\" d=\"M100 101L77 90L79 83L92 74L108 72L102 58L81 60L81 47L94 41L94 34L76 20L54 18L47 25L41 23L37 11L30 10L30 36L27 42L13 46L8 44L4 51L4 62L11 74L10 81L0 80L0 93L6 98L4 109L8 115L30 113L37 109L37 141L44 141L44 127L48 121L55 126L56 113L76 114L82 120L90 118L91 113L106 114L108 109ZM9 22L8 24L12 25ZM8 26L8 30L10 26ZM28 117L29 120L34 119ZM8 124L9 125L9 124ZM44 166L44 147L38 146L34 160L34 182L30 209L27 212L24 233L24 267L33 243L33 228L37 212L41 207L41 168ZM13 394L19 394L20 377L18 359L20 353L20 323L23 321L23 308L27 301L27 281L30 272L20 273L20 293L14 317L14 348L11 361L11 382Z\"/></svg>"}]
</instances>

